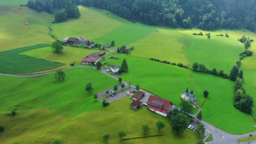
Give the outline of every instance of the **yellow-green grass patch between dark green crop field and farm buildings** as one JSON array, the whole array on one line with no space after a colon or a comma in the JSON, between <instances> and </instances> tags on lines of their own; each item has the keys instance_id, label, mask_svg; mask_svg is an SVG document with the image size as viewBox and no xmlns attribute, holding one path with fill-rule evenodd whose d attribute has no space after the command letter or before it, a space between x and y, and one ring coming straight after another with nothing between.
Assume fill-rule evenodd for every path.
<instances>
[{"instance_id":1,"label":"yellow-green grass patch between dark green crop field and farm buildings","mask_svg":"<svg viewBox=\"0 0 256 144\"><path fill-rule=\"evenodd\" d=\"M48 61L58 61L60 63L65 64L64 66L59 68L67 68L67 67L71 67L70 63L72 63L73 61L75 61L76 65L80 65L83 57L88 56L89 54L94 52L99 52L99 51L85 49L85 48L74 48L74 47L64 46L62 53L54 53L51 47L45 47L45 48L39 48L32 51L26 51L21 54L24 54L27 56L34 56L40 59L46 59Z\"/></svg>"}]
</instances>

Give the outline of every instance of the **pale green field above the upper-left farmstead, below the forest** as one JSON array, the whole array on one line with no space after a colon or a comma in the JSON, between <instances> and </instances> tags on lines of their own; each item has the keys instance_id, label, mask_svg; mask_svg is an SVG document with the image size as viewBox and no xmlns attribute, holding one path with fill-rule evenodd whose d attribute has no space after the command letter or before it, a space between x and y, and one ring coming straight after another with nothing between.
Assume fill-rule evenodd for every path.
<instances>
[{"instance_id":1,"label":"pale green field above the upper-left farmstead, below the forest","mask_svg":"<svg viewBox=\"0 0 256 144\"><path fill-rule=\"evenodd\" d=\"M134 24L109 11L79 6L81 17L52 24L51 34L59 39L64 37L86 37L104 45L115 40L116 46L128 45L155 32L155 27ZM108 13L108 14L107 14Z\"/></svg>"}]
</instances>

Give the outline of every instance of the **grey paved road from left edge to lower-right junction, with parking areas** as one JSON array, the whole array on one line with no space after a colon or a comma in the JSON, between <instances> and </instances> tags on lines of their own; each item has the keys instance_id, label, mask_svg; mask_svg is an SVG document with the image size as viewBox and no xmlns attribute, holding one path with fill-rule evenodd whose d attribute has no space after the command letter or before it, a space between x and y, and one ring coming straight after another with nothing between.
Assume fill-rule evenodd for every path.
<instances>
[{"instance_id":1,"label":"grey paved road from left edge to lower-right junction, with parking areas","mask_svg":"<svg viewBox=\"0 0 256 144\"><path fill-rule=\"evenodd\" d=\"M112 53L112 52L110 52L110 53ZM77 66L77 67L90 67L90 68L96 69L96 67L84 66L84 65ZM70 68L66 68L66 69L73 69L73 68L77 68L77 67L70 67ZM65 70L65 69L63 69L63 70ZM47 74L50 74L50 73L53 73L53 72L55 72L55 71L45 72L45 73L38 73L38 74L31 74L31 75L10 75L10 74L3 74L3 73L0 73L0 75L6 75L6 76L11 76L11 77L37 77L37 76L40 76L40 75L47 75ZM109 77L112 77L112 78L118 80L117 77L115 77L114 75L109 75L106 72L105 69L102 69L101 72L104 73L105 75L108 75ZM123 83L126 86L128 85L128 83L126 83L126 82L123 82ZM131 85L132 90L135 89L135 88L136 87L134 85ZM131 90L127 90L127 91L131 91ZM109 98L109 102L123 98L124 96L126 96L123 93L125 93L127 91L124 91L124 92L120 93L120 96L117 96L117 97L114 96L115 98L114 97L111 98L111 99ZM144 91L144 90L141 89L140 91ZM102 98L102 95L103 95L104 92L100 93L101 98ZM146 102L147 99L148 99L148 96L153 95L153 94L151 94L147 91L144 91L144 92L146 93L146 96L145 96L145 99L143 99L143 101ZM101 99L101 98L99 98L99 99ZM192 115L192 114L189 114L189 116L194 117L194 118L196 117L196 115ZM240 142L239 143L237 141L237 139L242 139L242 138L248 137L250 133L245 133L245 134L242 134L242 135L232 135L232 134L229 134L225 131L222 131L219 128L216 128L215 126L213 126L213 125L211 125L211 124L209 124L209 123L207 123L203 120L201 121L201 123L203 123L203 125L205 125L205 129L206 129L205 135L207 136L209 133L211 133L213 135L213 141L208 142L209 144L256 144L256 141L251 141L250 143L248 143L248 142ZM256 135L256 132L252 132L252 135L253 136Z\"/></svg>"}]
</instances>

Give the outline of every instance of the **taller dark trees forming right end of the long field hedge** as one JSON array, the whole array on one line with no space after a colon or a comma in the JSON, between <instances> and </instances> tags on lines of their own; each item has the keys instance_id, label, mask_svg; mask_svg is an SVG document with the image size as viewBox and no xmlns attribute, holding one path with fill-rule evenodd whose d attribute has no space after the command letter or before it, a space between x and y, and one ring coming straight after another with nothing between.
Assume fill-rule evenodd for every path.
<instances>
[{"instance_id":1,"label":"taller dark trees forming right end of the long field hedge","mask_svg":"<svg viewBox=\"0 0 256 144\"><path fill-rule=\"evenodd\" d=\"M209 70L208 68L205 67L204 64L198 64L197 62L192 64L192 70L199 71L199 72L205 72L205 73L208 73L211 75L216 75L216 76L223 77L223 78L229 78L229 76L224 73L224 70L220 70L219 72L217 71L216 68Z\"/></svg>"}]
</instances>

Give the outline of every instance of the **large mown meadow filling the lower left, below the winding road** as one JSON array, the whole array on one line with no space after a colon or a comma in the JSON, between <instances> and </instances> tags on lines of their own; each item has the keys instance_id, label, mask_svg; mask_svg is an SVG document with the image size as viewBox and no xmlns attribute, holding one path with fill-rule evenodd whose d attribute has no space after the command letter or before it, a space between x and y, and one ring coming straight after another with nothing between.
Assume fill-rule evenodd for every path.
<instances>
[{"instance_id":1,"label":"large mown meadow filling the lower left, below the winding road","mask_svg":"<svg viewBox=\"0 0 256 144\"><path fill-rule=\"evenodd\" d=\"M99 144L105 133L110 134L109 144L197 143L203 139L190 130L176 136L166 117L146 107L138 111L131 109L132 100L128 97L102 107L92 95L112 87L117 81L95 69L81 67L64 72L64 82L57 82L54 74L31 78L0 76L3 93L0 113L10 112L19 104L16 116L1 116L0 124L5 126L4 133L0 133L2 143L51 143L58 138L64 143ZM89 82L94 88L91 94L84 91ZM151 128L149 135L156 135L158 120L166 124L161 131L165 136L122 142L117 137L120 130L127 133L125 138L142 136L143 124Z\"/></svg>"}]
</instances>

